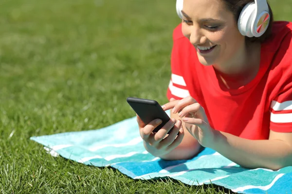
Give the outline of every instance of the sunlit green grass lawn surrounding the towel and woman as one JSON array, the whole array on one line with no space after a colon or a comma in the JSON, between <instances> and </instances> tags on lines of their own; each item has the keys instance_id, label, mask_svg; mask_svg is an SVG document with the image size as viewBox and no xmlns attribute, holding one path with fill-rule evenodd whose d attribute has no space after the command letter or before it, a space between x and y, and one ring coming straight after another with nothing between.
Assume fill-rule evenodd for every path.
<instances>
[{"instance_id":1,"label":"sunlit green grass lawn surrounding the towel and woman","mask_svg":"<svg viewBox=\"0 0 292 194\"><path fill-rule=\"evenodd\" d=\"M292 20L290 0L271 0ZM0 192L229 193L133 180L54 158L31 136L99 129L134 116L126 98L167 102L175 0L0 1Z\"/></svg>"}]
</instances>

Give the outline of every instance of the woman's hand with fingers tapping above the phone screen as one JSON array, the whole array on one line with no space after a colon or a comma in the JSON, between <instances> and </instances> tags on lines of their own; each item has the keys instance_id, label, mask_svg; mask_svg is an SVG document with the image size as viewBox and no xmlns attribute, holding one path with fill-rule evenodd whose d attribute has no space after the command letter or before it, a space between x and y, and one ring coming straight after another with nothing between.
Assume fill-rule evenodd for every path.
<instances>
[{"instance_id":1,"label":"woman's hand with fingers tapping above the phone screen","mask_svg":"<svg viewBox=\"0 0 292 194\"><path fill-rule=\"evenodd\" d=\"M193 97L185 97L181 100L171 99L162 107L164 111L172 109L172 113L179 113L185 122L186 129L198 142L204 147L212 147L216 130L210 127L204 109Z\"/></svg>"}]
</instances>

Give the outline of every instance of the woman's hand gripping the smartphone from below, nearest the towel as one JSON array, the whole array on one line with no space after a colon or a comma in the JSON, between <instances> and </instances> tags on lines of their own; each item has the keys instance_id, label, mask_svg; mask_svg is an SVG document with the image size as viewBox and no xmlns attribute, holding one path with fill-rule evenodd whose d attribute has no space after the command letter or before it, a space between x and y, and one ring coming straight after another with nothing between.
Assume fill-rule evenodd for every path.
<instances>
[{"instance_id":1,"label":"woman's hand gripping the smartphone from below, nearest the towel","mask_svg":"<svg viewBox=\"0 0 292 194\"><path fill-rule=\"evenodd\" d=\"M176 119L170 119L156 133L153 133L152 131L161 124L162 121L160 119L153 120L148 125L145 125L137 115L137 122L140 135L144 140L144 146L153 156L161 157L168 154L174 148L179 146L183 140L184 132L181 120L176 121ZM172 127L172 131L167 135L167 132Z\"/></svg>"}]
</instances>

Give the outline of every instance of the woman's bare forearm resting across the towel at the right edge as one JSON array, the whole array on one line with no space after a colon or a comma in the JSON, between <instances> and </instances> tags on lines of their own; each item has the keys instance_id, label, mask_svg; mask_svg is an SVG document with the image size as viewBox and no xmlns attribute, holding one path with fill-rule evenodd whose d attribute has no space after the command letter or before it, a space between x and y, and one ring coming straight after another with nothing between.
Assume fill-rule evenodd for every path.
<instances>
[{"instance_id":1,"label":"woman's bare forearm resting across the towel at the right edge","mask_svg":"<svg viewBox=\"0 0 292 194\"><path fill-rule=\"evenodd\" d=\"M277 170L292 165L292 147L281 140L248 140L217 131L210 147L246 168Z\"/></svg>"}]
</instances>

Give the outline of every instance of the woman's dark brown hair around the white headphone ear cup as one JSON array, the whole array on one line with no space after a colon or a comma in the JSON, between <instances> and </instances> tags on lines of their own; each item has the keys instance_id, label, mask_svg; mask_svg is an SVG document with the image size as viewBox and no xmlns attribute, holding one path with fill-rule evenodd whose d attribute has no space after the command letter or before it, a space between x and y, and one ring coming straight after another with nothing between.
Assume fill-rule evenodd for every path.
<instances>
[{"instance_id":1,"label":"woman's dark brown hair around the white headphone ear cup","mask_svg":"<svg viewBox=\"0 0 292 194\"><path fill-rule=\"evenodd\" d=\"M235 16L235 20L237 22L240 12L242 11L243 7L250 2L255 2L255 0L222 0L228 7L228 9L233 13ZM248 42L264 42L266 39L269 38L269 36L272 34L272 24L274 21L273 12L272 9L268 3L269 9L270 9L270 21L267 31L261 35L260 37L247 37L245 36L245 40Z\"/></svg>"}]
</instances>

